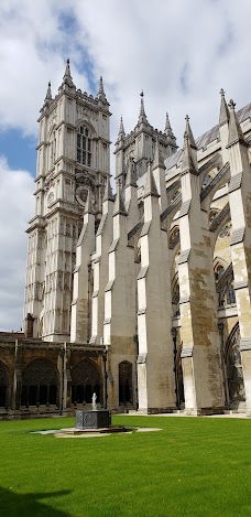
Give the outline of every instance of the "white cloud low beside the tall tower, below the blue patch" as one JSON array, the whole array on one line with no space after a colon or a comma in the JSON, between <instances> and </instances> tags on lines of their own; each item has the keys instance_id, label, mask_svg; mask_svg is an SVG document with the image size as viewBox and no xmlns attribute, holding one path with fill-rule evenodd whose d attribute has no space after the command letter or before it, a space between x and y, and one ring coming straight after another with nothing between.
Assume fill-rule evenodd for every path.
<instances>
[{"instance_id":1,"label":"white cloud low beside the tall tower, below the blue patch","mask_svg":"<svg viewBox=\"0 0 251 517\"><path fill-rule=\"evenodd\" d=\"M28 220L34 214L34 182L0 157L0 331L22 326Z\"/></svg>"}]
</instances>

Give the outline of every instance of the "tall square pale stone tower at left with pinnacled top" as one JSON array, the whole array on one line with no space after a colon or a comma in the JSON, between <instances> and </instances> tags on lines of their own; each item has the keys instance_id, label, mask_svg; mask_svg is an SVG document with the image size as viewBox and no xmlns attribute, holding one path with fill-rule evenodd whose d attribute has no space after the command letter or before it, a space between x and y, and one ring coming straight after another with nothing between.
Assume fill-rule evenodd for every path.
<instances>
[{"instance_id":1,"label":"tall square pale stone tower at left with pinnacled top","mask_svg":"<svg viewBox=\"0 0 251 517\"><path fill-rule=\"evenodd\" d=\"M77 89L69 60L58 94L48 84L39 118L35 216L28 229L24 328L34 337L69 340L73 271L86 200L101 218L110 170L109 103L100 77L97 97Z\"/></svg>"}]
</instances>

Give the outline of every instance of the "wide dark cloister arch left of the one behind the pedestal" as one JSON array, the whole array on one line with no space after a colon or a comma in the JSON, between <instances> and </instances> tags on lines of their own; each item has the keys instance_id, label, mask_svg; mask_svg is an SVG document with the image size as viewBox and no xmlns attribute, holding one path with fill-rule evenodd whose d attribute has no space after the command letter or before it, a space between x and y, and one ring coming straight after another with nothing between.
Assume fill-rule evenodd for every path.
<instances>
[{"instance_id":1,"label":"wide dark cloister arch left of the one behind the pedestal","mask_svg":"<svg viewBox=\"0 0 251 517\"><path fill-rule=\"evenodd\" d=\"M46 359L34 359L22 375L21 406L58 406L58 376Z\"/></svg>"}]
</instances>

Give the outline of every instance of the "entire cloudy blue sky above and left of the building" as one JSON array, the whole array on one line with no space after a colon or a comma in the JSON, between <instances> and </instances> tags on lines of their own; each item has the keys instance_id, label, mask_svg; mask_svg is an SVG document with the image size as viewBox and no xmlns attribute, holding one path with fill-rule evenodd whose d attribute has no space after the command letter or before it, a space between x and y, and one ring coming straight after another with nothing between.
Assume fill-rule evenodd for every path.
<instances>
[{"instance_id":1,"label":"entire cloudy blue sky above and left of the building","mask_svg":"<svg viewBox=\"0 0 251 517\"><path fill-rule=\"evenodd\" d=\"M142 89L150 123L163 130L168 111L182 146L186 114L195 137L218 123L220 88L237 109L251 101L250 20L250 0L0 1L0 331L22 327L48 80L55 95L67 57L83 91L95 96L102 75L111 151L121 115L135 127Z\"/></svg>"}]
</instances>

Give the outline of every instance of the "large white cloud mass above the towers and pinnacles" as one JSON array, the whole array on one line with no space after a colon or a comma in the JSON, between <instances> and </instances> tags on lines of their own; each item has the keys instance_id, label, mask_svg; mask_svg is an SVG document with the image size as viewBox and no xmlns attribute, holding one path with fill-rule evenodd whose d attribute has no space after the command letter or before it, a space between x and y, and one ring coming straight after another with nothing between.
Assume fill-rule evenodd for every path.
<instances>
[{"instance_id":1,"label":"large white cloud mass above the towers and pinnacles","mask_svg":"<svg viewBox=\"0 0 251 517\"><path fill-rule=\"evenodd\" d=\"M81 89L87 62L103 75L113 141L121 114L126 130L135 126L142 88L154 127L167 109L181 141L188 112L198 136L218 120L221 87L238 107L250 100L250 18L249 0L1 2L0 125L35 132L46 83L56 93L69 55Z\"/></svg>"}]
</instances>

